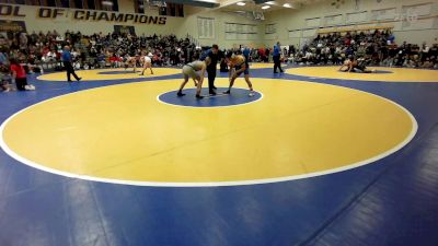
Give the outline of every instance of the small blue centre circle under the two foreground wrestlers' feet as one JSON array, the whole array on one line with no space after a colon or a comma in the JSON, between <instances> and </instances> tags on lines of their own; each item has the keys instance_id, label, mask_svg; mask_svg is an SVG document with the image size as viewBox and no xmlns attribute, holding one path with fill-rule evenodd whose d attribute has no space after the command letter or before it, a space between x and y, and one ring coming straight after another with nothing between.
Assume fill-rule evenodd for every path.
<instances>
[{"instance_id":1,"label":"small blue centre circle under the two foreground wrestlers' feet","mask_svg":"<svg viewBox=\"0 0 438 246\"><path fill-rule=\"evenodd\" d=\"M263 94L254 91L254 96L249 96L250 91L247 89L231 89L231 94L223 94L227 87L219 87L217 95L210 96L208 89L203 89L201 95L205 97L198 99L195 97L196 89L183 90L185 96L177 96L177 91L166 92L158 96L158 99L165 104L172 104L185 107L226 107L235 106L242 104L249 104L256 102L263 97Z\"/></svg>"}]
</instances>

